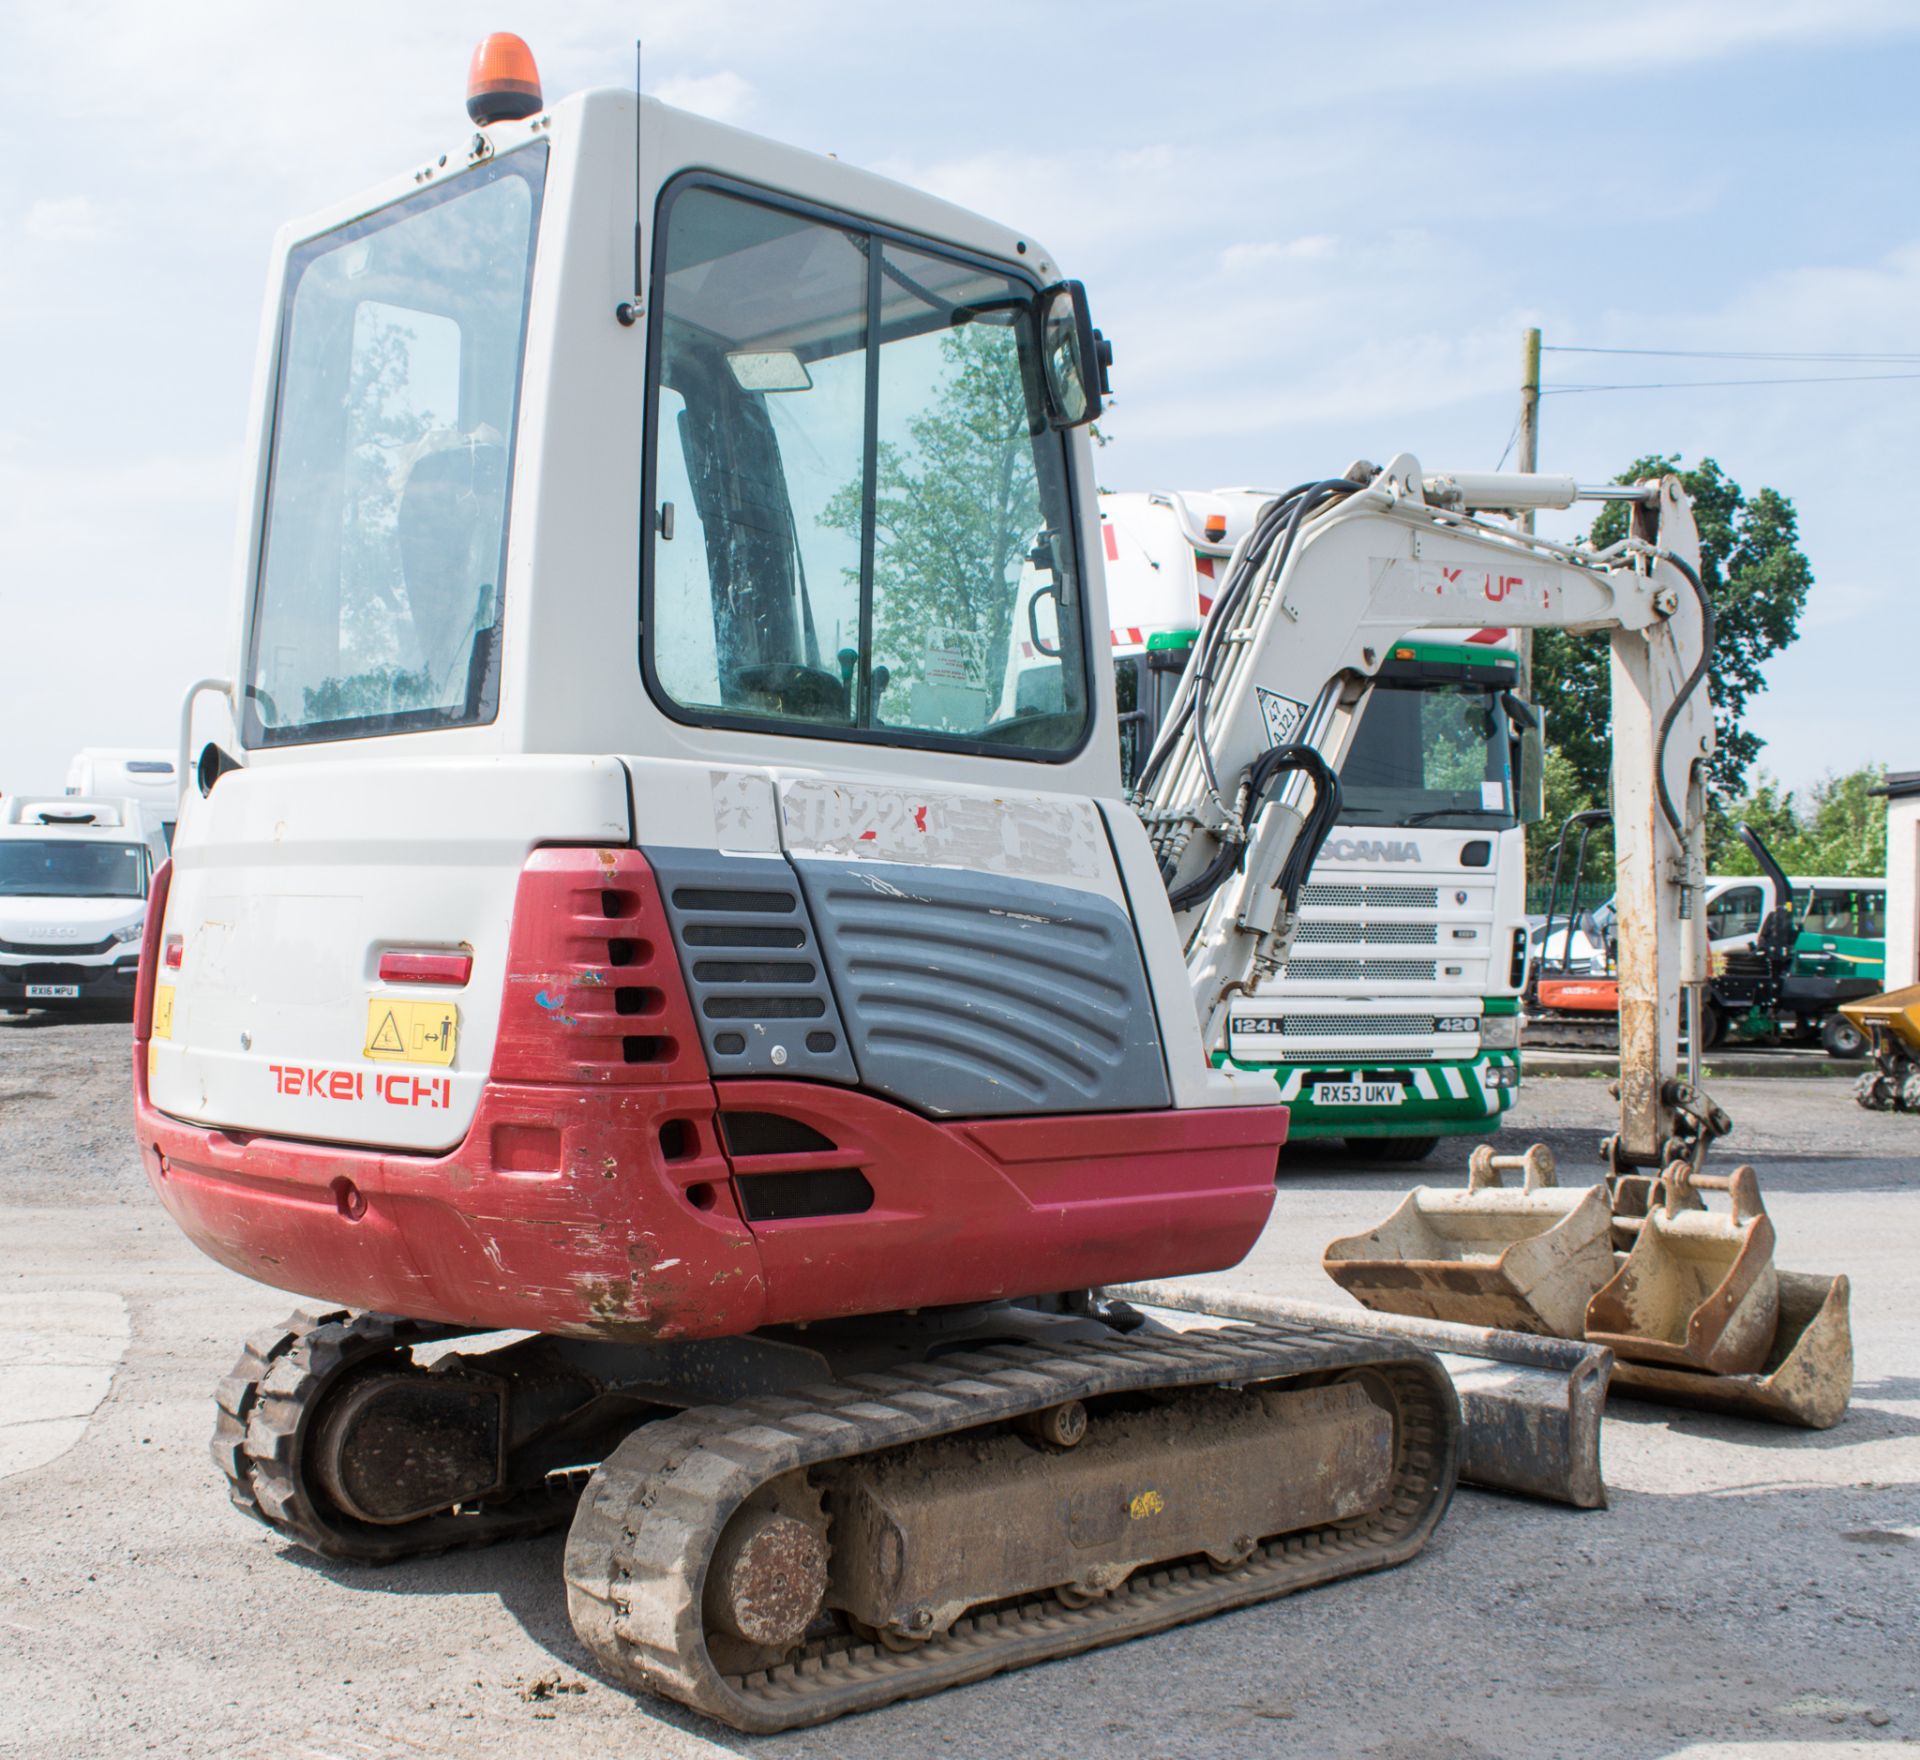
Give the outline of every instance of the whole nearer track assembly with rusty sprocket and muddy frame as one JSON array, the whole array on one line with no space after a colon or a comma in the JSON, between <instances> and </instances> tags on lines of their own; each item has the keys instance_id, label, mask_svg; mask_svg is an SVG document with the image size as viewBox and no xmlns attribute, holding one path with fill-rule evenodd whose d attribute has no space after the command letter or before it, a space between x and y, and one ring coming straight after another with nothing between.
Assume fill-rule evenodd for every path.
<instances>
[{"instance_id":1,"label":"whole nearer track assembly with rusty sprocket and muddy frame","mask_svg":"<svg viewBox=\"0 0 1920 1760\"><path fill-rule=\"evenodd\" d=\"M595 1470L566 1608L614 1679L770 1733L1411 1558L1434 1359L1298 1326L998 1345L695 1407Z\"/></svg>"}]
</instances>

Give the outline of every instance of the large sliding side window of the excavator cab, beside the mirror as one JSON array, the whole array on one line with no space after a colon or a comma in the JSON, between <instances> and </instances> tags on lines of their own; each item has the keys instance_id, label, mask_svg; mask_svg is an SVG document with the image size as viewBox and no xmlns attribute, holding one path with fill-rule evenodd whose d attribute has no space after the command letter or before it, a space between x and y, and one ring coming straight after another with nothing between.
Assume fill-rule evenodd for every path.
<instances>
[{"instance_id":1,"label":"large sliding side window of the excavator cab, beside the mirror","mask_svg":"<svg viewBox=\"0 0 1920 1760\"><path fill-rule=\"evenodd\" d=\"M1068 756L1087 672L1035 288L710 182L655 265L643 662L684 720Z\"/></svg>"}]
</instances>

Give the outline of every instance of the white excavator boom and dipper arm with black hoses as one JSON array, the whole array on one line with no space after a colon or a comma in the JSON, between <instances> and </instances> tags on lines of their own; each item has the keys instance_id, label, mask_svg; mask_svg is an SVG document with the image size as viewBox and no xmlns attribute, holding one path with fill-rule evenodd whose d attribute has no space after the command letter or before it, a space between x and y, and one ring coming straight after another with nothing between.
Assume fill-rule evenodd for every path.
<instances>
[{"instance_id":1,"label":"white excavator boom and dipper arm with black hoses","mask_svg":"<svg viewBox=\"0 0 1920 1760\"><path fill-rule=\"evenodd\" d=\"M1592 551L1475 518L1576 499L1630 501L1630 535ZM1311 747L1338 772L1371 678L1407 630L1609 631L1620 1134L1628 1155L1659 1161L1680 988L1707 977L1697 902L1713 708L1697 580L1699 535L1672 478L1632 489L1423 478L1402 455L1275 501L1229 562L1135 797L1187 937L1206 1046L1225 1042L1233 1000L1286 958L1288 892L1313 854L1302 837L1315 789L1294 768L1311 754L1267 754Z\"/></svg>"}]
</instances>

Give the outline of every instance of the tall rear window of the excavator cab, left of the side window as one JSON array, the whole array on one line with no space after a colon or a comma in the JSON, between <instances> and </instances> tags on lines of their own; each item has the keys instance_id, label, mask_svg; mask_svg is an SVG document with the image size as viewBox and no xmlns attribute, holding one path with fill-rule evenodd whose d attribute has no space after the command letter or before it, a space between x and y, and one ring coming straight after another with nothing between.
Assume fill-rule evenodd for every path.
<instances>
[{"instance_id":1,"label":"tall rear window of the excavator cab, left of the side window","mask_svg":"<svg viewBox=\"0 0 1920 1760\"><path fill-rule=\"evenodd\" d=\"M547 150L296 246L246 741L490 722Z\"/></svg>"}]
</instances>

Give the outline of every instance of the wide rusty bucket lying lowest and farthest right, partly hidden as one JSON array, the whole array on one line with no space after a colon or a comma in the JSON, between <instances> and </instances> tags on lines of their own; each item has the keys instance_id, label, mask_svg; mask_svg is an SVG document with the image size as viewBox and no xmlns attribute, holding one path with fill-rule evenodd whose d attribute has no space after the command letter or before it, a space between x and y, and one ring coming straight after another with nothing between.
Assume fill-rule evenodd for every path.
<instances>
[{"instance_id":1,"label":"wide rusty bucket lying lowest and farthest right, partly hidden","mask_svg":"<svg viewBox=\"0 0 1920 1760\"><path fill-rule=\"evenodd\" d=\"M1780 1322L1753 1374L1697 1374L1661 1363L1617 1359L1613 1386L1636 1399L1692 1405L1740 1418L1830 1430L1853 1397L1853 1330L1847 1280L1782 1271ZM1465 1409L1465 1401L1461 1401ZM1469 1430L1471 1438L1471 1430ZM1465 1476L1465 1466L1461 1468Z\"/></svg>"}]
</instances>

